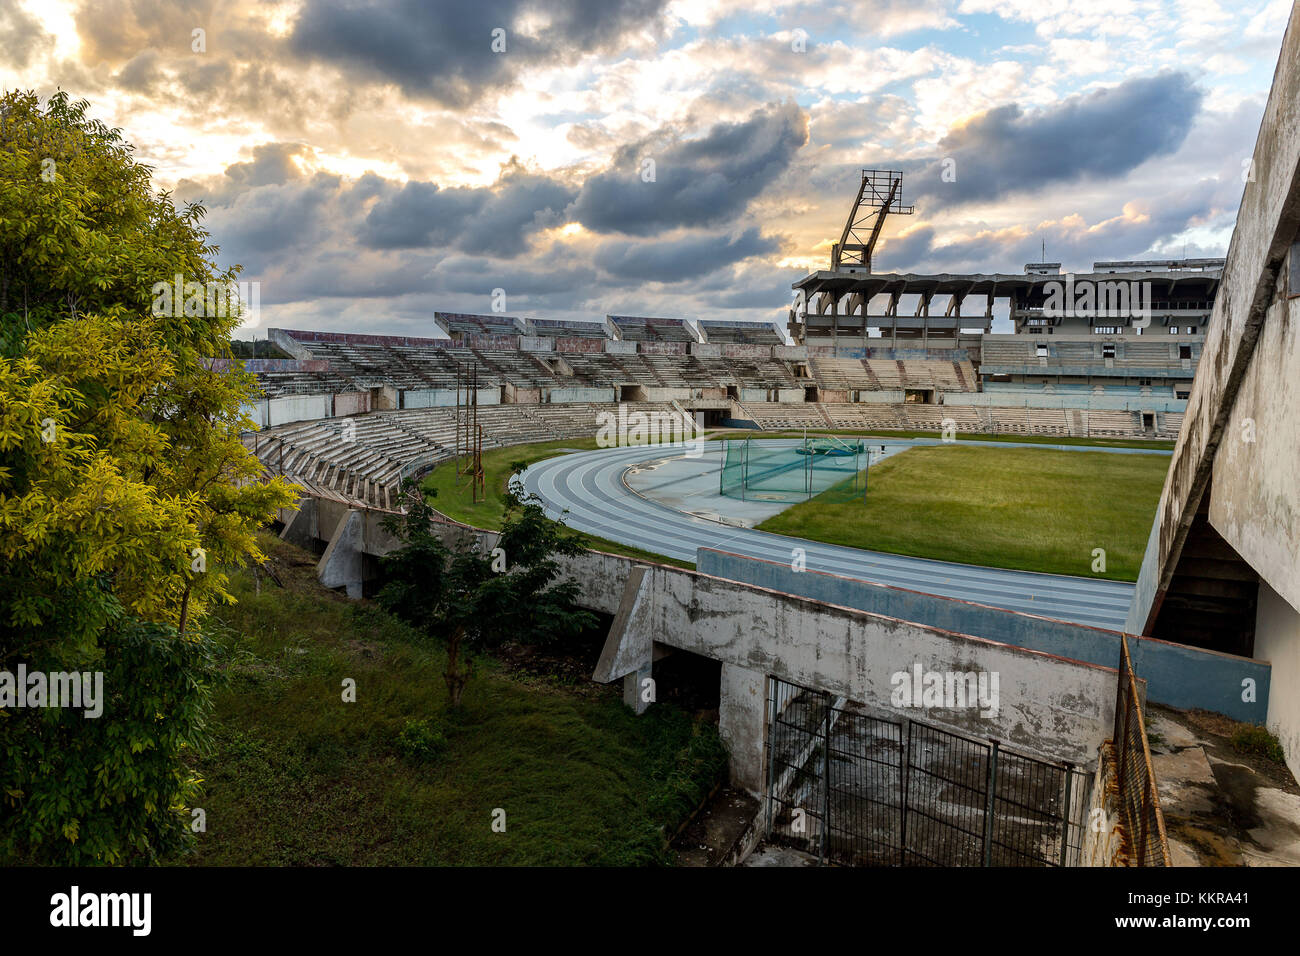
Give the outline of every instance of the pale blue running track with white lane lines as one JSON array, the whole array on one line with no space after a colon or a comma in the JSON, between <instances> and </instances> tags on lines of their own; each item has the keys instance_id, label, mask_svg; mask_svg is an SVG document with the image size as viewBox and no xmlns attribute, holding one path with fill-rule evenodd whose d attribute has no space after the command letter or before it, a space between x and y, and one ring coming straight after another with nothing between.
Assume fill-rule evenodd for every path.
<instances>
[{"instance_id":1,"label":"pale blue running track with white lane lines","mask_svg":"<svg viewBox=\"0 0 1300 956\"><path fill-rule=\"evenodd\" d=\"M922 438L889 440L887 444L935 442ZM1134 454L1132 449L1096 446L1019 444L1015 447ZM706 442L705 449L706 460L710 460L714 468L720 467L720 442ZM811 571L828 571L846 578L978 601L1080 624L1123 628L1132 600L1132 584L910 558L803 541L753 528L733 528L649 501L623 484L623 473L633 464L672 453L673 446L659 445L560 455L528 468L523 475L524 488L542 498L551 518L559 518L560 512L567 510L568 514L563 518L571 528L679 561L694 562L696 549L716 548L751 558L789 563L790 549L798 546L805 549L807 568Z\"/></svg>"}]
</instances>

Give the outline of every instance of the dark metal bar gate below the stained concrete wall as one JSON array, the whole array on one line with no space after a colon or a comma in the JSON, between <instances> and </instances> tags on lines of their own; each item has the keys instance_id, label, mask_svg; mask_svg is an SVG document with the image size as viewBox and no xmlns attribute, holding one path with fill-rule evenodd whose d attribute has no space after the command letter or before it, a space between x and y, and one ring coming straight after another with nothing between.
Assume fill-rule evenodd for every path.
<instances>
[{"instance_id":1,"label":"dark metal bar gate below the stained concrete wall","mask_svg":"<svg viewBox=\"0 0 1300 956\"><path fill-rule=\"evenodd\" d=\"M1091 774L768 688L768 836L854 866L1076 865Z\"/></svg>"}]
</instances>

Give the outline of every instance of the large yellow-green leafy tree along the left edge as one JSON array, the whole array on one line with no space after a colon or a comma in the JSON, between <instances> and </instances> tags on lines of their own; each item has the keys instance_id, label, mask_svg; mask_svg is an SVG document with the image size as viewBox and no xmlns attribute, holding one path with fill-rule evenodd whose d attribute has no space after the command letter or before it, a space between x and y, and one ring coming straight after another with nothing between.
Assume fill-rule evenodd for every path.
<instances>
[{"instance_id":1,"label":"large yellow-green leafy tree along the left edge","mask_svg":"<svg viewBox=\"0 0 1300 956\"><path fill-rule=\"evenodd\" d=\"M0 857L147 862L192 839L213 671L202 622L294 489L240 440L256 382L218 373L238 303L203 208L151 189L64 94L0 96L0 671L104 674L104 709L0 709ZM222 293L225 295L225 293Z\"/></svg>"}]
</instances>

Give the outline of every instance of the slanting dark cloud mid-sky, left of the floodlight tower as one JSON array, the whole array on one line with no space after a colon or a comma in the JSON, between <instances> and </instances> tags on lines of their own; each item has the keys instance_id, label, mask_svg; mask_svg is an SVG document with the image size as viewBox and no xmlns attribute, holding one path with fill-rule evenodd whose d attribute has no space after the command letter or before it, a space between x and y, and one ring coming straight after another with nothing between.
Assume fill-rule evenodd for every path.
<instances>
[{"instance_id":1,"label":"slanting dark cloud mid-sky, left of the floodlight tower","mask_svg":"<svg viewBox=\"0 0 1300 956\"><path fill-rule=\"evenodd\" d=\"M582 185L569 217L593 232L630 235L733 220L785 172L807 137L807 116L786 103L744 122L716 124L699 139L624 147L610 170ZM653 182L642 179L647 159Z\"/></svg>"}]
</instances>

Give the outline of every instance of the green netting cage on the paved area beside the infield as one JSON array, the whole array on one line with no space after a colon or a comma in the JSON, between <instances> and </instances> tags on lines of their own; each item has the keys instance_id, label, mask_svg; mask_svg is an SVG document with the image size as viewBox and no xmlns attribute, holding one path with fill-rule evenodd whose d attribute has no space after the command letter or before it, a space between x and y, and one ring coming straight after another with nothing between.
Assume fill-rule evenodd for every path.
<instances>
[{"instance_id":1,"label":"green netting cage on the paved area beside the infield","mask_svg":"<svg viewBox=\"0 0 1300 956\"><path fill-rule=\"evenodd\" d=\"M855 486L864 464L861 441L807 438L792 445L728 438L718 490L732 498L802 501L845 480Z\"/></svg>"}]
</instances>

